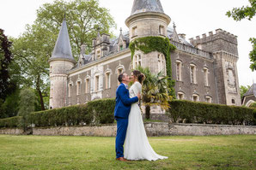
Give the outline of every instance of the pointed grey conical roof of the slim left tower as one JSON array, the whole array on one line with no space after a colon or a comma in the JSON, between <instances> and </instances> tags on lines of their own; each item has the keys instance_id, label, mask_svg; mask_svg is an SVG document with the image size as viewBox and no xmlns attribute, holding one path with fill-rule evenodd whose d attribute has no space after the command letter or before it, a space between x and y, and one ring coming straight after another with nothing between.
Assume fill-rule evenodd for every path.
<instances>
[{"instance_id":1,"label":"pointed grey conical roof of the slim left tower","mask_svg":"<svg viewBox=\"0 0 256 170\"><path fill-rule=\"evenodd\" d=\"M65 19L58 33L58 39L56 41L50 60L52 59L65 59L75 62L71 51L70 36Z\"/></svg>"}]
</instances>

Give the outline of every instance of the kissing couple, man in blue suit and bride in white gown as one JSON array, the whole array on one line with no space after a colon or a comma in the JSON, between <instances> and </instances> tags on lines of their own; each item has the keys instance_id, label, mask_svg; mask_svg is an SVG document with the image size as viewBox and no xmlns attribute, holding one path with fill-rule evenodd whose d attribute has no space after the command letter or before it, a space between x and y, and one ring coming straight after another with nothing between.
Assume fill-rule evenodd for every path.
<instances>
[{"instance_id":1,"label":"kissing couple, man in blue suit and bride in white gown","mask_svg":"<svg viewBox=\"0 0 256 170\"><path fill-rule=\"evenodd\" d=\"M116 159L118 161L167 159L168 157L158 155L152 149L143 125L138 101L142 95L145 76L140 71L134 70L130 78L126 73L121 73L118 77L120 85L116 91L114 109L114 117L117 120ZM130 81L133 84L128 90Z\"/></svg>"}]
</instances>

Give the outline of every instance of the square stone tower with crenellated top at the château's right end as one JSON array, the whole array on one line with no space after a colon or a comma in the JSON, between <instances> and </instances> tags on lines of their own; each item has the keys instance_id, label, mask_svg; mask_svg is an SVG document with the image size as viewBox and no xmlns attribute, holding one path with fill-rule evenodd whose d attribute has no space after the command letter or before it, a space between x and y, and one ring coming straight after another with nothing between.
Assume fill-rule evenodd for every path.
<instances>
[{"instance_id":1,"label":"square stone tower with crenellated top at the ch\u00e2teau's right end","mask_svg":"<svg viewBox=\"0 0 256 170\"><path fill-rule=\"evenodd\" d=\"M209 32L200 38L190 39L191 44L200 50L213 54L218 103L241 106L236 62L238 61L237 37L222 29Z\"/></svg>"}]
</instances>

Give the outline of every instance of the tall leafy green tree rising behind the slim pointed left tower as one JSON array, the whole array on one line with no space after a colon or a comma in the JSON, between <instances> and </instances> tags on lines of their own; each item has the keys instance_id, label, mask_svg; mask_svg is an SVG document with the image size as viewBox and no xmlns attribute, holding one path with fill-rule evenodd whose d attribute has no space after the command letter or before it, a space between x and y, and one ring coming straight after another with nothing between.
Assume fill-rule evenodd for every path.
<instances>
[{"instance_id":1,"label":"tall leafy green tree rising behind the slim pointed left tower","mask_svg":"<svg viewBox=\"0 0 256 170\"><path fill-rule=\"evenodd\" d=\"M37 14L36 24L47 27L51 32L58 32L65 15L75 57L79 56L82 44L87 45L88 51L91 50L91 42L98 29L109 33L111 28L116 27L113 17L107 9L99 6L98 0L73 0L70 3L58 0L44 4Z\"/></svg>"}]
</instances>

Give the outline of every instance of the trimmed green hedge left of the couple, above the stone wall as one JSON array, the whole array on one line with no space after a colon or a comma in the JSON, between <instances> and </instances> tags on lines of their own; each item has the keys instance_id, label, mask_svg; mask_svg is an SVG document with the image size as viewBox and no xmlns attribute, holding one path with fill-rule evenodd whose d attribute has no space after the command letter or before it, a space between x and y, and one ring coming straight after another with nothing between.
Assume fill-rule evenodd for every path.
<instances>
[{"instance_id":1,"label":"trimmed green hedge left of the couple, above the stone wall","mask_svg":"<svg viewBox=\"0 0 256 170\"><path fill-rule=\"evenodd\" d=\"M34 126L78 126L113 123L115 100L102 99L64 108L34 112L28 121ZM20 117L0 120L0 127L17 127Z\"/></svg>"}]
</instances>

